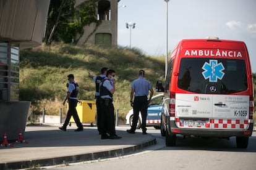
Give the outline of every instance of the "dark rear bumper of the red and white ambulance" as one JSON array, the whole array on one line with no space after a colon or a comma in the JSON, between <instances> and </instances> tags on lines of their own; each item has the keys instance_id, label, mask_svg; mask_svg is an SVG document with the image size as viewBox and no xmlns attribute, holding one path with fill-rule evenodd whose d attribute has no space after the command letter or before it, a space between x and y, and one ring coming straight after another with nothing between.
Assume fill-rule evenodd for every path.
<instances>
[{"instance_id":1,"label":"dark rear bumper of the red and white ambulance","mask_svg":"<svg viewBox=\"0 0 256 170\"><path fill-rule=\"evenodd\" d=\"M254 124L250 123L249 127L245 130L231 130L231 129L195 129L195 128L179 128L174 121L167 123L167 131L171 134L193 135L202 137L249 137L252 136Z\"/></svg>"}]
</instances>

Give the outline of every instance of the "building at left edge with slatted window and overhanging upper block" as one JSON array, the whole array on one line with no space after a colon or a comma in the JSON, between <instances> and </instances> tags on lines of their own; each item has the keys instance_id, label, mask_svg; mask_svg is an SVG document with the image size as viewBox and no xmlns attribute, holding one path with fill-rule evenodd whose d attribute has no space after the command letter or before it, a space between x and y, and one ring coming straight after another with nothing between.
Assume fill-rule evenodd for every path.
<instances>
[{"instance_id":1,"label":"building at left edge with slatted window and overhanging upper block","mask_svg":"<svg viewBox=\"0 0 256 170\"><path fill-rule=\"evenodd\" d=\"M15 140L25 130L30 102L19 100L19 52L41 44L49 2L0 1L0 142L4 133Z\"/></svg>"}]
</instances>

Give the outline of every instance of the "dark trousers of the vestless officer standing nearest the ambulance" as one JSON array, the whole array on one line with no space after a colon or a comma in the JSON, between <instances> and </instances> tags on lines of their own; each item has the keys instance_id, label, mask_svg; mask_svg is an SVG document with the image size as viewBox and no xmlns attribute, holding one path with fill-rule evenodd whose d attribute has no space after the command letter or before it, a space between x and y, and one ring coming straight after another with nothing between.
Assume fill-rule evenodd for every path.
<instances>
[{"instance_id":1,"label":"dark trousers of the vestless officer standing nearest the ambulance","mask_svg":"<svg viewBox=\"0 0 256 170\"><path fill-rule=\"evenodd\" d=\"M134 98L134 118L132 119L132 131L135 131L139 113L142 115L142 132L146 132L146 119L148 111L148 99L147 96L139 96Z\"/></svg>"}]
</instances>

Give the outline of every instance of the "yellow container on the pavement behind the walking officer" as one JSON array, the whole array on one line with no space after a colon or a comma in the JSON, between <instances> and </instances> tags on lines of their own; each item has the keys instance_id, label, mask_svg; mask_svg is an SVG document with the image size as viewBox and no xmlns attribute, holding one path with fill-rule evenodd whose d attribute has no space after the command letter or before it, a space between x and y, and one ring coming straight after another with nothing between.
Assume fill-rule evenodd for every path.
<instances>
[{"instance_id":1,"label":"yellow container on the pavement behind the walking officer","mask_svg":"<svg viewBox=\"0 0 256 170\"><path fill-rule=\"evenodd\" d=\"M81 123L91 123L91 126L93 126L96 115L96 102L90 100L79 100L76 108ZM70 123L74 122L75 120L72 116L70 119Z\"/></svg>"}]
</instances>

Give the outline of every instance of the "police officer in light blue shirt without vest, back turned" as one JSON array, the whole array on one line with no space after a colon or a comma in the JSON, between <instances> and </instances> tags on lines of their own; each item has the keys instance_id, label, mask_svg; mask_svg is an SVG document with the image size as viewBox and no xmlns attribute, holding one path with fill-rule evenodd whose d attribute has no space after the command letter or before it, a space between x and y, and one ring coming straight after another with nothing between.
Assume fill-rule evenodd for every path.
<instances>
[{"instance_id":1,"label":"police officer in light blue shirt without vest, back turned","mask_svg":"<svg viewBox=\"0 0 256 170\"><path fill-rule=\"evenodd\" d=\"M147 134L146 119L148 103L153 95L152 85L144 78L145 71L139 71L139 78L132 82L132 89L130 91L130 105L134 108L134 117L132 119L132 127L127 132L134 134L139 119L139 113L142 115L142 134ZM148 97L150 91L150 97ZM135 97L134 97L135 96ZM133 101L134 99L134 101Z\"/></svg>"}]
</instances>

